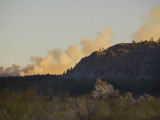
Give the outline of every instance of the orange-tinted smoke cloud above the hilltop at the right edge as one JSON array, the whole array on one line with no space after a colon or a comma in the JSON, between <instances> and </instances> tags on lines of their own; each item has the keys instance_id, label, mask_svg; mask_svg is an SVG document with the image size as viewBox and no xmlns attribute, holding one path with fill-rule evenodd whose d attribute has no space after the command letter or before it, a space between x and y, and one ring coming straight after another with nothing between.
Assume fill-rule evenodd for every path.
<instances>
[{"instance_id":1,"label":"orange-tinted smoke cloud above the hilltop at the right edge","mask_svg":"<svg viewBox=\"0 0 160 120\"><path fill-rule=\"evenodd\" d=\"M133 39L136 41L149 40L151 37L154 40L160 38L160 6L150 11L149 18L133 34Z\"/></svg>"}]
</instances>

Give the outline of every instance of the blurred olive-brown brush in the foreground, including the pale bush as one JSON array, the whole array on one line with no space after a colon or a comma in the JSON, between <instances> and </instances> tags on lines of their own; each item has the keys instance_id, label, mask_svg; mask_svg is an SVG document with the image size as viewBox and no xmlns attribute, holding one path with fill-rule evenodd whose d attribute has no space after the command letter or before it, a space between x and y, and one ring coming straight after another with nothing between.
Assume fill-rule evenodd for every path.
<instances>
[{"instance_id":1,"label":"blurred olive-brown brush in the foreground, including the pale bush","mask_svg":"<svg viewBox=\"0 0 160 120\"><path fill-rule=\"evenodd\" d=\"M52 89L45 96L34 89L0 92L1 120L159 120L159 108L159 98L121 95L101 80L94 91L76 97L69 93L57 96Z\"/></svg>"}]
</instances>

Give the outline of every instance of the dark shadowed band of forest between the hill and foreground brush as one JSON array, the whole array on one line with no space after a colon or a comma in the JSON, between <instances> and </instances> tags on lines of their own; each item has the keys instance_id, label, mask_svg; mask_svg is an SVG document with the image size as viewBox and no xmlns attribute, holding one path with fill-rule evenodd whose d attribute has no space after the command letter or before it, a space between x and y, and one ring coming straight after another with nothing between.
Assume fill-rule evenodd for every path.
<instances>
[{"instance_id":1,"label":"dark shadowed band of forest between the hill and foreground brush","mask_svg":"<svg viewBox=\"0 0 160 120\"><path fill-rule=\"evenodd\" d=\"M132 92L133 95L144 93L159 96L160 79L102 79L113 85L121 93ZM45 95L53 91L60 95L69 93L73 96L90 93L95 87L93 79L64 79L63 76L25 76L25 77L0 77L0 89L8 88L10 91L23 91L33 88L37 93Z\"/></svg>"}]
</instances>

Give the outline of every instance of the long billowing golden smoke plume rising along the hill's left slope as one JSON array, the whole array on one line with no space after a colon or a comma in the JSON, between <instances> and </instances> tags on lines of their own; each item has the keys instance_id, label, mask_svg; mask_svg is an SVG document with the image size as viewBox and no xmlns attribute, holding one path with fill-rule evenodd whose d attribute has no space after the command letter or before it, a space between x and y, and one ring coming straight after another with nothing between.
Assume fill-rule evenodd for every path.
<instances>
[{"instance_id":1,"label":"long billowing golden smoke plume rising along the hill's left slope","mask_svg":"<svg viewBox=\"0 0 160 120\"><path fill-rule=\"evenodd\" d=\"M4 69L0 67L1 75L33 75L33 74L62 74L68 68L74 67L82 57L88 56L99 48L107 48L113 45L113 31L111 28L98 32L98 38L95 40L86 38L81 41L81 46L73 45L62 52L60 49L51 50L45 58L31 57L33 64L20 68L18 65L12 65Z\"/></svg>"}]
</instances>

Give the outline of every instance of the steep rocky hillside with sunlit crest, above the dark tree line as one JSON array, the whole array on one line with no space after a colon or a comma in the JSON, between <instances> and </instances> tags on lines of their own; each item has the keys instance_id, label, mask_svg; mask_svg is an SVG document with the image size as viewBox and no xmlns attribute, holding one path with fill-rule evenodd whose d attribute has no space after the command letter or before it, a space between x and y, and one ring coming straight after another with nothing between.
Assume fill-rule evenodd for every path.
<instances>
[{"instance_id":1,"label":"steep rocky hillside with sunlit crest, above the dark tree line","mask_svg":"<svg viewBox=\"0 0 160 120\"><path fill-rule=\"evenodd\" d=\"M66 78L159 79L160 43L121 43L95 51L81 61Z\"/></svg>"}]
</instances>

